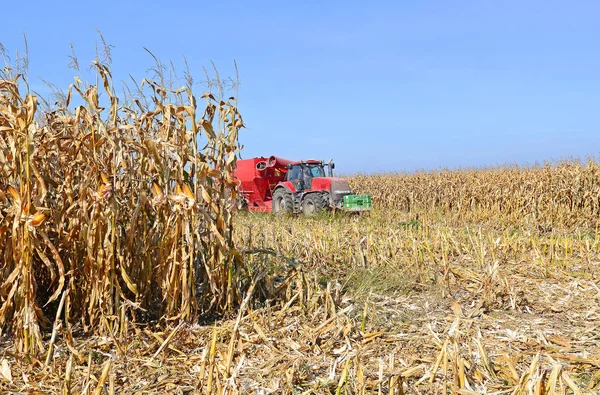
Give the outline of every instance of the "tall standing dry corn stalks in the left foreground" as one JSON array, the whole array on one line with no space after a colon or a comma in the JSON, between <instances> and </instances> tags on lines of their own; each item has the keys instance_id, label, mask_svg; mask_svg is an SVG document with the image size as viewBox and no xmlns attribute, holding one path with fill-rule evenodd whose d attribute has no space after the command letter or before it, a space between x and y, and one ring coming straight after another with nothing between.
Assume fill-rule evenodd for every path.
<instances>
[{"instance_id":1,"label":"tall standing dry corn stalks in the left foreground","mask_svg":"<svg viewBox=\"0 0 600 395\"><path fill-rule=\"evenodd\" d=\"M117 333L127 316L222 312L251 283L232 238L235 100L207 93L198 111L188 88L144 80L122 103L94 68L42 124L22 77L0 80L0 328L25 353L65 291L67 326Z\"/></svg>"}]
</instances>

